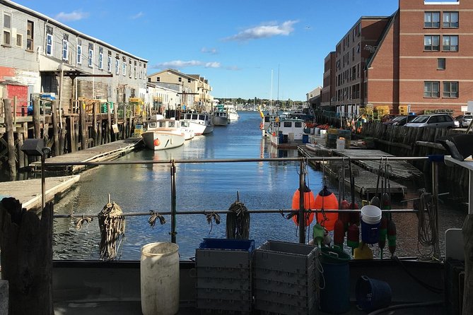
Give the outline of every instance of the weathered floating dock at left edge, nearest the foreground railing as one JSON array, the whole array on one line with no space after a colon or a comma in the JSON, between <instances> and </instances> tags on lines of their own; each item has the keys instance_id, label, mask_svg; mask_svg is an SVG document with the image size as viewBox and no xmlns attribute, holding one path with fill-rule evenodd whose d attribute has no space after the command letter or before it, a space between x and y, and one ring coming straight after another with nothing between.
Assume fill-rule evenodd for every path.
<instances>
[{"instance_id":1,"label":"weathered floating dock at left edge, nearest the foreground railing","mask_svg":"<svg viewBox=\"0 0 473 315\"><path fill-rule=\"evenodd\" d=\"M69 191L78 182L80 175L46 177L45 200L54 200ZM41 208L41 179L27 179L16 182L1 182L0 195L18 199L26 210Z\"/></svg>"}]
</instances>

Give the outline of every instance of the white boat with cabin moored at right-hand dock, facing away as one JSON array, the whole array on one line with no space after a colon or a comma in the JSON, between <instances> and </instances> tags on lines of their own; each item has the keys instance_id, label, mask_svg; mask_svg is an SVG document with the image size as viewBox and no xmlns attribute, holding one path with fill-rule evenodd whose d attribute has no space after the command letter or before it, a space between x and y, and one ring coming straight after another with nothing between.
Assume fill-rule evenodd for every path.
<instances>
[{"instance_id":1,"label":"white boat with cabin moored at right-hand dock, facing away","mask_svg":"<svg viewBox=\"0 0 473 315\"><path fill-rule=\"evenodd\" d=\"M302 119L274 119L271 129L271 145L276 147L292 147L309 143L309 134L304 132L305 123Z\"/></svg>"}]
</instances>

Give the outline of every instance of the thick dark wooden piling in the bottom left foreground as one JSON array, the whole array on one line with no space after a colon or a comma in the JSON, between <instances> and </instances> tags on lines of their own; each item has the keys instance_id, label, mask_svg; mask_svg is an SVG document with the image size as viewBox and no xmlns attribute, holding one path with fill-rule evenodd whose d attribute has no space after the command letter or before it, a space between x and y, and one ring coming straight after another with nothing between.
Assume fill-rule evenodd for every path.
<instances>
[{"instance_id":1,"label":"thick dark wooden piling in the bottom left foreground","mask_svg":"<svg viewBox=\"0 0 473 315\"><path fill-rule=\"evenodd\" d=\"M52 203L40 219L15 198L0 201L1 278L10 287L10 314L54 314L52 213Z\"/></svg>"}]
</instances>

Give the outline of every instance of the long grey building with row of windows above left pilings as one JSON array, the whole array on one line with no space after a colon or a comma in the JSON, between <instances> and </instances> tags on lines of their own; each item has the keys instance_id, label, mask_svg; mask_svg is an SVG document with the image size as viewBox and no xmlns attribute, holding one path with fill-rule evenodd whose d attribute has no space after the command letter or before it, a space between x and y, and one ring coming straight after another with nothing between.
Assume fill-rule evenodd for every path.
<instances>
[{"instance_id":1,"label":"long grey building with row of windows above left pilings","mask_svg":"<svg viewBox=\"0 0 473 315\"><path fill-rule=\"evenodd\" d=\"M127 102L146 93L147 60L12 1L0 0L0 81L54 93L59 107L78 97Z\"/></svg>"}]
</instances>

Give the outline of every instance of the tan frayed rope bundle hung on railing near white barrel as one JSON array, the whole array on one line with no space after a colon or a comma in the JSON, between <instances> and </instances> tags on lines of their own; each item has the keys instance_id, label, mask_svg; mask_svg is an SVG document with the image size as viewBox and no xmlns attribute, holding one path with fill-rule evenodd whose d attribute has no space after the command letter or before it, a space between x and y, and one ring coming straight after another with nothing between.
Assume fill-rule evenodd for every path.
<instances>
[{"instance_id":1,"label":"tan frayed rope bundle hung on railing near white barrel","mask_svg":"<svg viewBox=\"0 0 473 315\"><path fill-rule=\"evenodd\" d=\"M122 208L115 202L107 203L98 213L98 225L100 227L100 260L115 260L125 233ZM119 242L118 245L117 242Z\"/></svg>"}]
</instances>

